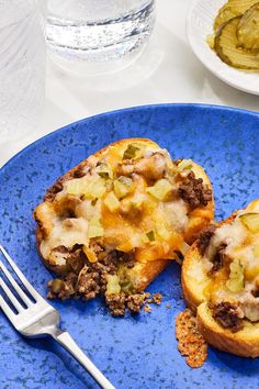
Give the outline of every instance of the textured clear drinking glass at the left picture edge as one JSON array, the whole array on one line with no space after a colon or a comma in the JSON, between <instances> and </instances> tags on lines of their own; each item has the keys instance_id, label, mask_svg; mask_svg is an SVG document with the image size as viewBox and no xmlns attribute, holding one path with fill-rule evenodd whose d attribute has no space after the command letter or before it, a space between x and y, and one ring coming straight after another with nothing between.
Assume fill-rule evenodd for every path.
<instances>
[{"instance_id":1,"label":"textured clear drinking glass at the left picture edge","mask_svg":"<svg viewBox=\"0 0 259 389\"><path fill-rule=\"evenodd\" d=\"M0 0L0 143L33 130L45 95L45 38L37 0Z\"/></svg>"}]
</instances>

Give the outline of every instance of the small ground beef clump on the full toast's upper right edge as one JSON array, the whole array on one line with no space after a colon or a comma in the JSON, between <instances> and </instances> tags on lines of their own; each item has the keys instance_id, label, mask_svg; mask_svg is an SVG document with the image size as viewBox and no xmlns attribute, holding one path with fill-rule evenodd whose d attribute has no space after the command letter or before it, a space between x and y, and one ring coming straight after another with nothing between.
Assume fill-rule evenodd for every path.
<instances>
[{"instance_id":1,"label":"small ground beef clump on the full toast's upper right edge","mask_svg":"<svg viewBox=\"0 0 259 389\"><path fill-rule=\"evenodd\" d=\"M205 207L212 200L212 190L203 185L202 178L195 178L193 171L190 171L180 184L178 194L190 205L191 210L201 205Z\"/></svg>"}]
</instances>

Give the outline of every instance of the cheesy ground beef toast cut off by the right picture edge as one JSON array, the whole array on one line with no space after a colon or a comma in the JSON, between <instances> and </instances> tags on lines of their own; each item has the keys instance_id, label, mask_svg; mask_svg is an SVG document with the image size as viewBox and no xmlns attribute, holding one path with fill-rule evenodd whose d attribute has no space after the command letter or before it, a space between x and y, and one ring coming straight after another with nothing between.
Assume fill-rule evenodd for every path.
<instances>
[{"instance_id":1,"label":"cheesy ground beef toast cut off by the right picture edge","mask_svg":"<svg viewBox=\"0 0 259 389\"><path fill-rule=\"evenodd\" d=\"M207 343L259 356L259 200L201 234L185 255L182 288Z\"/></svg>"}]
</instances>

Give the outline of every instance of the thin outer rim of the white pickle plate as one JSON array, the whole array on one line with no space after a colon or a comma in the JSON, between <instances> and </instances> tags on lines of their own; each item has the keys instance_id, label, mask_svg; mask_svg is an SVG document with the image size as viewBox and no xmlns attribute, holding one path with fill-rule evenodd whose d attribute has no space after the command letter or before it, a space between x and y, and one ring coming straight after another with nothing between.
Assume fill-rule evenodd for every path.
<instances>
[{"instance_id":1,"label":"thin outer rim of the white pickle plate","mask_svg":"<svg viewBox=\"0 0 259 389\"><path fill-rule=\"evenodd\" d=\"M188 11L187 14L187 20L185 20L185 34L187 34L187 38L189 42L189 45L193 52L193 54L196 56L196 58L202 63L202 65L210 70L215 77L219 78L222 81L224 81L225 84L227 84L228 86L236 88L238 90L241 90L243 92L246 93L250 93L250 95L255 95L255 96L259 96L259 89L254 89L252 86L250 88L245 87L241 84L235 84L232 82L227 76L225 76L225 73L218 73L217 70L214 69L214 67L212 66L212 63L214 64L214 60L211 63L210 60L206 59L206 56L203 56L195 47L195 41L193 38L193 34L192 34L192 15L194 10L196 9L198 4L201 3L202 0L193 0L191 3L191 7ZM223 63L224 64L224 63ZM224 64L226 66L226 69L234 69L234 70L238 70L235 68L232 68L230 66ZM259 74L258 74L259 77Z\"/></svg>"}]
</instances>

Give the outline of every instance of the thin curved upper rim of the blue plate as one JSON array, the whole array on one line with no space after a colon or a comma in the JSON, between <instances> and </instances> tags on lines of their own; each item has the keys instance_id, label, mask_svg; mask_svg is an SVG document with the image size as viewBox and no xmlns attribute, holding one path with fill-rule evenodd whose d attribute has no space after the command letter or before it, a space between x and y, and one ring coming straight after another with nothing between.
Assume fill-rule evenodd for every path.
<instances>
[{"instance_id":1,"label":"thin curved upper rim of the blue plate","mask_svg":"<svg viewBox=\"0 0 259 389\"><path fill-rule=\"evenodd\" d=\"M137 111L139 109L147 109L147 110L153 110L155 108L159 108L159 107L164 107L164 108L195 108L195 109L212 109L212 110L219 110L219 111L230 111L230 112L237 112L237 113L245 113L245 114L249 114L251 116L256 116L259 119L259 112L256 111L251 111L251 110L247 110L244 108L237 108L237 107L230 107L230 105L221 105L221 104L206 104L206 103L192 103L192 102L187 102L187 103L155 103L155 104L143 104L143 105L133 105L133 107L127 107L127 108L121 108L121 109L116 109L116 110L112 110L112 111L105 111L105 112L101 112L94 115L90 115L90 116L86 116L83 119L77 120L75 122L68 123L61 127L58 127L52 132L49 132L46 135L43 135L41 137L38 137L37 140L33 141L32 143L30 143L29 145L26 145L25 147L23 147L20 152L18 152L16 154L14 154L10 159L8 159L2 167L0 167L0 175L4 174L4 170L9 167L9 165L11 165L13 162L15 163L15 160L24 153L30 151L31 148L35 147L40 142L48 140L49 137L55 136L57 133L61 133L63 131L69 130L72 125L78 125L81 124L88 120L92 120L92 119L98 119L98 118L105 118L108 115L113 115L113 114L117 114L117 113L123 113L123 112L134 112Z\"/></svg>"}]
</instances>

